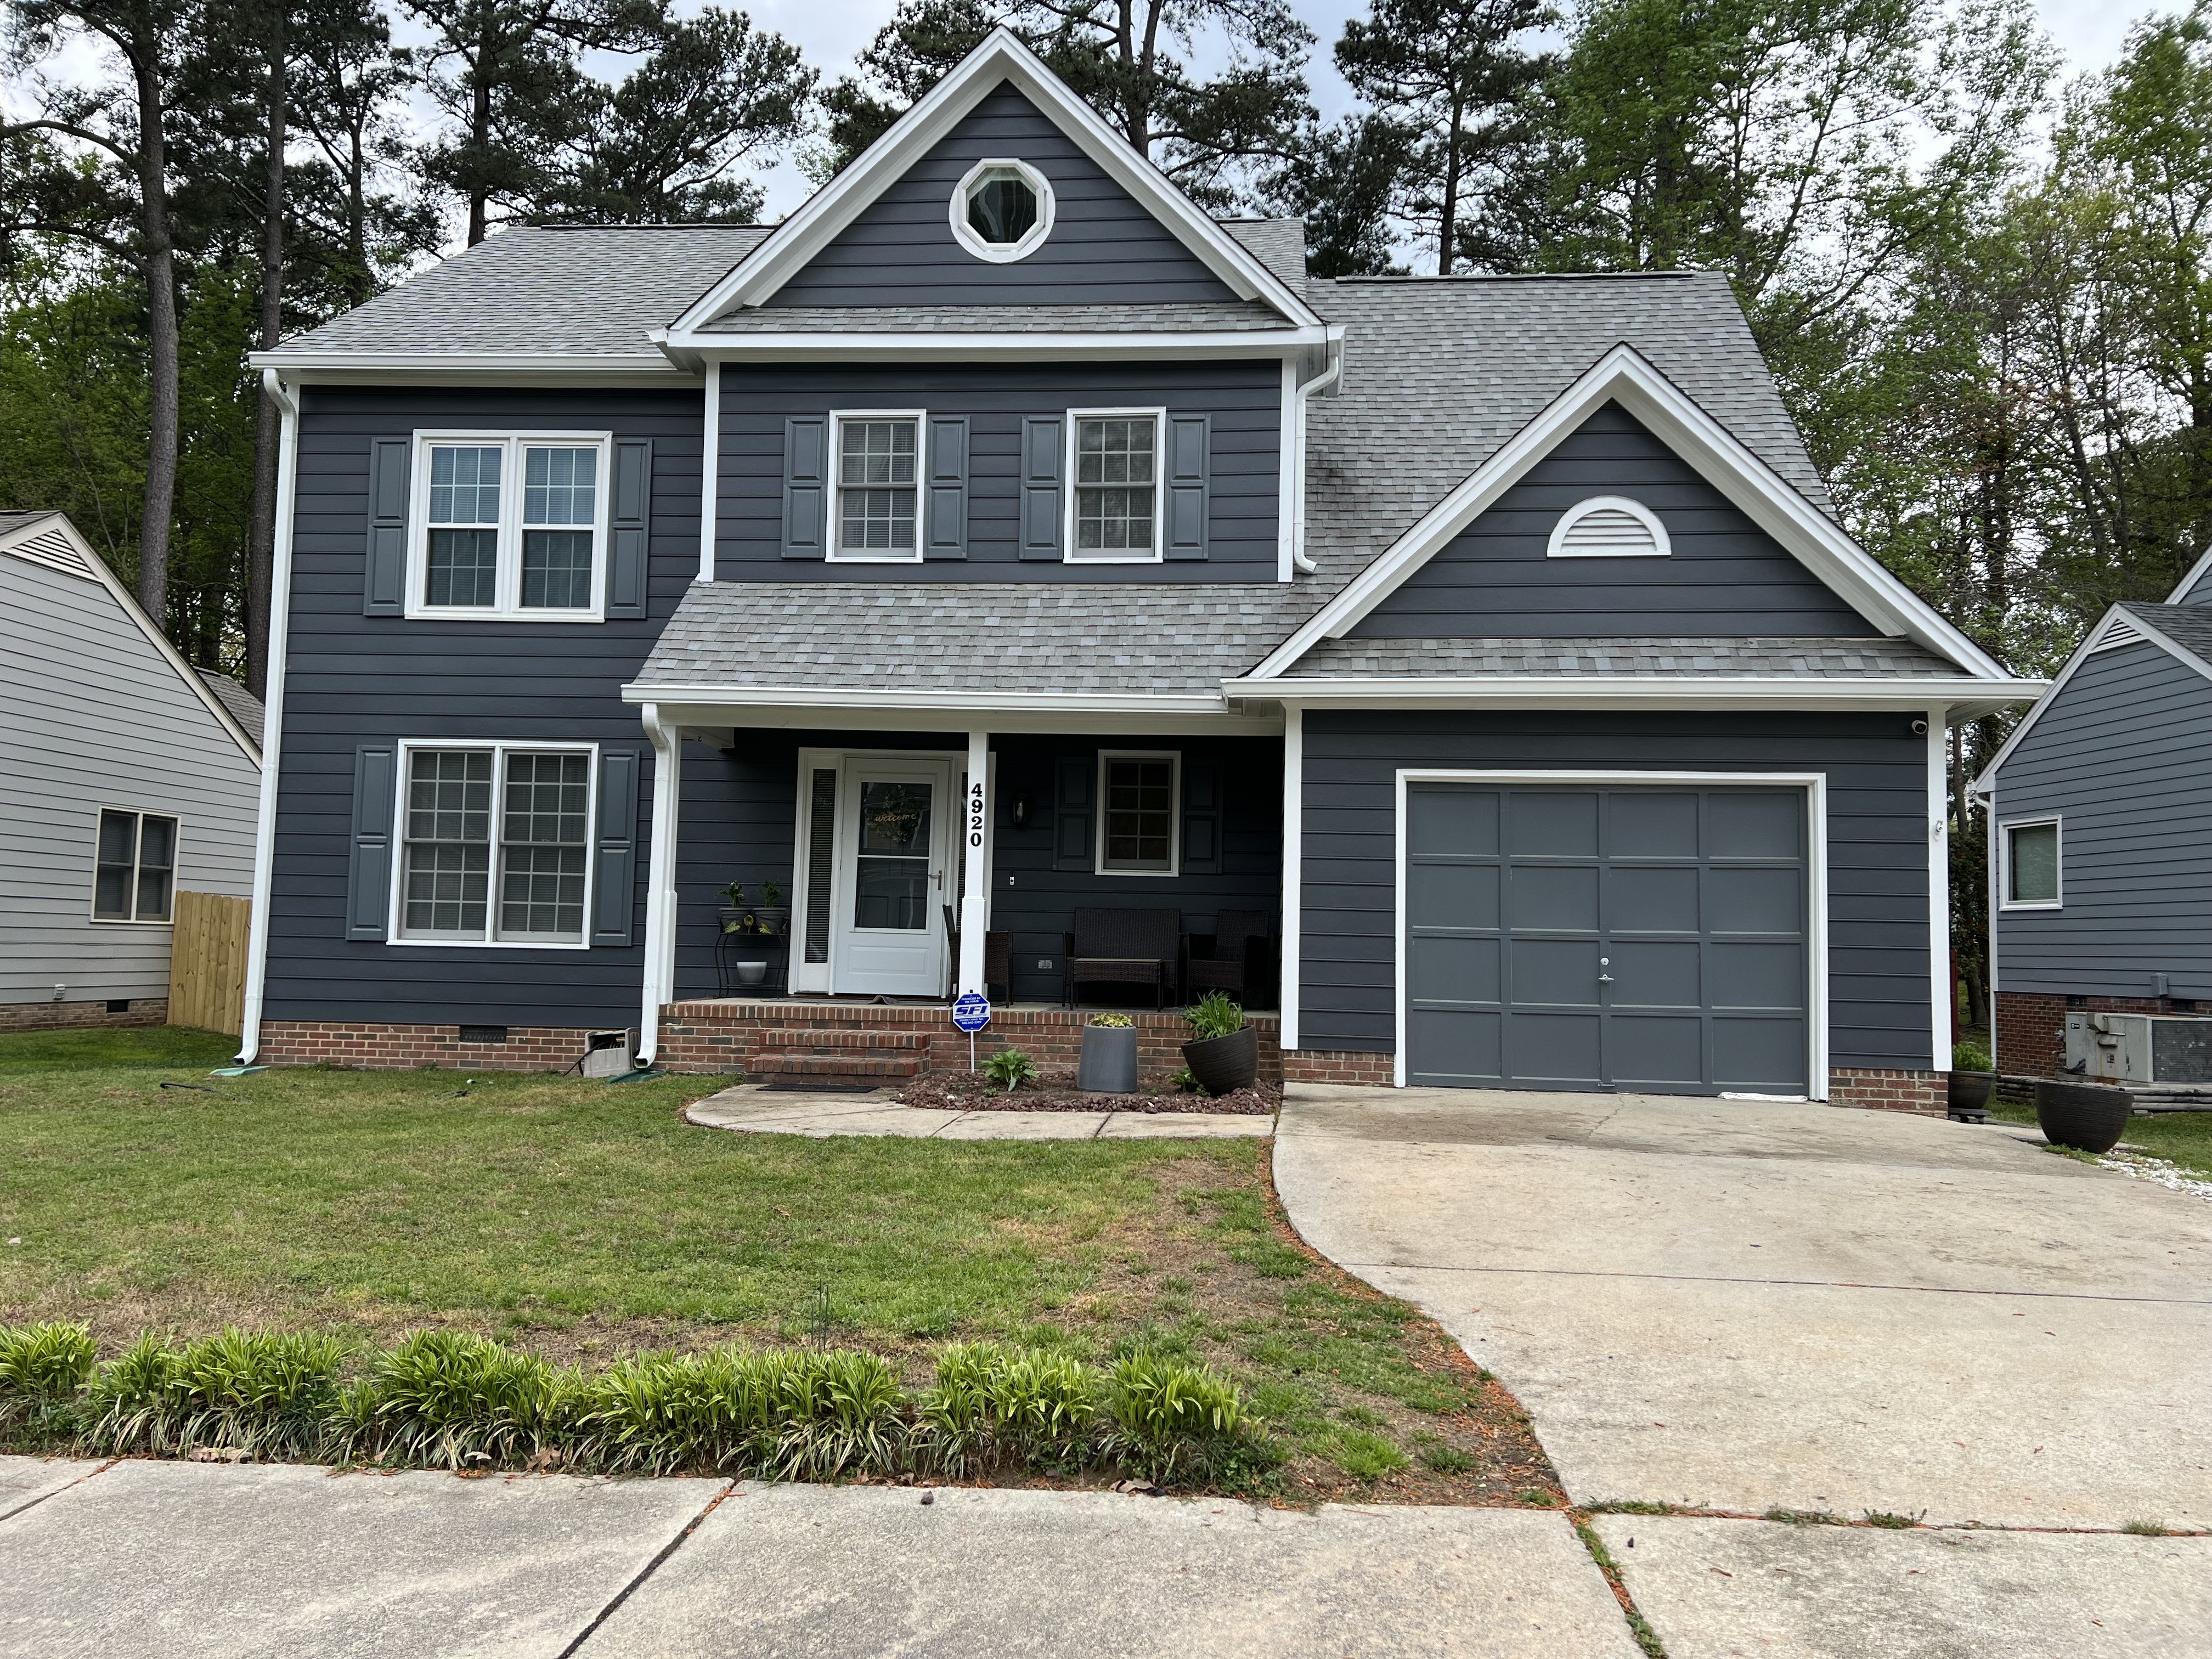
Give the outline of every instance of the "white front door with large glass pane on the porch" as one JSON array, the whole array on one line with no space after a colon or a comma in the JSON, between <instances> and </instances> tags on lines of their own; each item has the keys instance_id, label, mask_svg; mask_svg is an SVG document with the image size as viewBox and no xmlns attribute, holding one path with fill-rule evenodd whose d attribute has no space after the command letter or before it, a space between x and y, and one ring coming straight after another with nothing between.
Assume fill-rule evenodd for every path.
<instances>
[{"instance_id":1,"label":"white front door with large glass pane on the porch","mask_svg":"<svg viewBox=\"0 0 2212 1659\"><path fill-rule=\"evenodd\" d=\"M951 792L945 761L845 763L830 951L838 993L945 993Z\"/></svg>"}]
</instances>

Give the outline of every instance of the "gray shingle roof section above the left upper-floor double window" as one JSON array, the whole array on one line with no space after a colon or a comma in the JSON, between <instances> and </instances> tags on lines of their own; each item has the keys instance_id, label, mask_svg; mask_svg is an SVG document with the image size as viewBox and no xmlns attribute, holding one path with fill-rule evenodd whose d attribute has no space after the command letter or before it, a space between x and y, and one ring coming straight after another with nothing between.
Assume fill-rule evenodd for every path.
<instances>
[{"instance_id":1,"label":"gray shingle roof section above the left upper-floor double window","mask_svg":"<svg viewBox=\"0 0 2212 1659\"><path fill-rule=\"evenodd\" d=\"M285 352L653 352L765 241L761 226L520 226L276 347Z\"/></svg>"}]
</instances>

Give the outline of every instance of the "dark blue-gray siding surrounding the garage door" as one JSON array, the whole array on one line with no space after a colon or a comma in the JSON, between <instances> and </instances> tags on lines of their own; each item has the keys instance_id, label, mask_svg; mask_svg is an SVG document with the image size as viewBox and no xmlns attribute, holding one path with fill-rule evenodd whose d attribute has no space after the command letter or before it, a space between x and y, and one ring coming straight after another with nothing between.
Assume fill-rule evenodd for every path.
<instances>
[{"instance_id":1,"label":"dark blue-gray siding surrounding the garage door","mask_svg":"<svg viewBox=\"0 0 2212 1659\"><path fill-rule=\"evenodd\" d=\"M1829 1062L1929 1066L1927 739L1909 717L1307 712L1301 1048L1396 1046L1398 768L1825 772Z\"/></svg>"}]
</instances>

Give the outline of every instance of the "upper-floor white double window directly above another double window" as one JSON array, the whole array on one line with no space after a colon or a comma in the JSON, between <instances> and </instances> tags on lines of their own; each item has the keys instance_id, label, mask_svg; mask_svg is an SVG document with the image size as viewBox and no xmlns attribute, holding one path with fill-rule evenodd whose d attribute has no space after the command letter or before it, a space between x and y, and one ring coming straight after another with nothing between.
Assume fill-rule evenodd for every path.
<instances>
[{"instance_id":1,"label":"upper-floor white double window directly above another double window","mask_svg":"<svg viewBox=\"0 0 2212 1659\"><path fill-rule=\"evenodd\" d=\"M416 434L407 615L597 622L602 434Z\"/></svg>"}]
</instances>

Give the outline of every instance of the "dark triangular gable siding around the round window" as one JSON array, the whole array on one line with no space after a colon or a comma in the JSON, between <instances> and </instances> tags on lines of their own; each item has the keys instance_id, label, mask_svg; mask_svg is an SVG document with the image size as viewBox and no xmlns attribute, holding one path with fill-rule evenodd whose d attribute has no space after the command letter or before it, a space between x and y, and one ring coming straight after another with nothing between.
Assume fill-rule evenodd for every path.
<instances>
[{"instance_id":1,"label":"dark triangular gable siding around the round window","mask_svg":"<svg viewBox=\"0 0 2212 1659\"><path fill-rule=\"evenodd\" d=\"M1053 232L995 265L953 239L951 197L982 159L1053 186ZM1237 299L1175 234L1011 84L969 111L860 210L770 305L1115 305Z\"/></svg>"}]
</instances>

